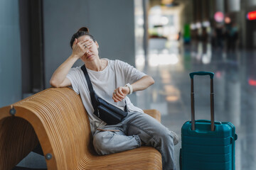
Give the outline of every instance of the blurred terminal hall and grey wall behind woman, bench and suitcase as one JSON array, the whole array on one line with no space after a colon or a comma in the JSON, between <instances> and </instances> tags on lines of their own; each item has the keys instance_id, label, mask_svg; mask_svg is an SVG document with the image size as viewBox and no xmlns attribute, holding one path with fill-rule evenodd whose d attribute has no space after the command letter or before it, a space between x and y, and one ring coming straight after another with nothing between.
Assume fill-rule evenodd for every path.
<instances>
[{"instance_id":1,"label":"blurred terminal hall and grey wall behind woman, bench and suitcase","mask_svg":"<svg viewBox=\"0 0 256 170\"><path fill-rule=\"evenodd\" d=\"M255 0L1 0L0 13L0 107L49 88L71 36L87 26L100 57L155 79L130 98L158 109L179 136L191 119L188 74L215 72L215 120L236 127L236 169L256 169ZM195 93L196 119L210 119L208 77L195 78ZM31 153L18 166L46 163Z\"/></svg>"}]
</instances>

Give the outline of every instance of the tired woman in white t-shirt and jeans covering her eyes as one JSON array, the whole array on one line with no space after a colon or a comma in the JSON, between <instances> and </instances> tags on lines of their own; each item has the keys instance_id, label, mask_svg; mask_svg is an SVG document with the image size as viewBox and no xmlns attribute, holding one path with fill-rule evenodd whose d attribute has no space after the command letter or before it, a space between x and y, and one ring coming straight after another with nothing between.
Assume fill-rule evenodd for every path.
<instances>
[{"instance_id":1,"label":"tired woman in white t-shirt and jeans covering her eyes","mask_svg":"<svg viewBox=\"0 0 256 170\"><path fill-rule=\"evenodd\" d=\"M51 86L72 86L80 94L82 103L89 115L93 145L98 154L111 154L129 149L151 146L162 155L163 169L175 169L174 145L178 137L151 116L135 107L127 97L134 91L141 91L152 84L154 79L139 72L131 65L120 60L99 57L99 45L89 30L80 28L70 40L72 55L58 67L50 79ZM97 96L121 108L126 107L128 114L122 122L107 125L94 113L90 91L81 67L71 68L78 60L85 63L93 89Z\"/></svg>"}]
</instances>

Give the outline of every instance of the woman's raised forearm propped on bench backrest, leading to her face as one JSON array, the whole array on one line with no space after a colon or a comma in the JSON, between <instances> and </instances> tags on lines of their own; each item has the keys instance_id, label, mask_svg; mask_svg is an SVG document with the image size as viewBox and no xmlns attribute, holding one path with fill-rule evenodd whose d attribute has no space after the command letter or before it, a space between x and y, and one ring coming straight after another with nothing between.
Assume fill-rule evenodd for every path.
<instances>
[{"instance_id":1,"label":"woman's raised forearm propped on bench backrest, leading to her face","mask_svg":"<svg viewBox=\"0 0 256 170\"><path fill-rule=\"evenodd\" d=\"M75 55L70 55L63 64L61 64L58 69L55 70L53 76L50 79L50 85L54 87L59 87L63 84L68 72L70 71L73 64L79 59L79 57Z\"/></svg>"}]
</instances>

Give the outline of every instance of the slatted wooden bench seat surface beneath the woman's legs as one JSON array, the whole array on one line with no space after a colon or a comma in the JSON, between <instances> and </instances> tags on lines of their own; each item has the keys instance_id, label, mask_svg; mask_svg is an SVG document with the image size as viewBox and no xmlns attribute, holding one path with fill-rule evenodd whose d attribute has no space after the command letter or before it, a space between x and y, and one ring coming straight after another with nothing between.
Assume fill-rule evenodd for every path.
<instances>
[{"instance_id":1,"label":"slatted wooden bench seat surface beneath the woman's legs","mask_svg":"<svg viewBox=\"0 0 256 170\"><path fill-rule=\"evenodd\" d=\"M140 147L126 152L91 157L92 163L78 169L161 169L161 154L153 147ZM82 159L80 164L84 162ZM100 165L100 166L99 166Z\"/></svg>"}]
</instances>

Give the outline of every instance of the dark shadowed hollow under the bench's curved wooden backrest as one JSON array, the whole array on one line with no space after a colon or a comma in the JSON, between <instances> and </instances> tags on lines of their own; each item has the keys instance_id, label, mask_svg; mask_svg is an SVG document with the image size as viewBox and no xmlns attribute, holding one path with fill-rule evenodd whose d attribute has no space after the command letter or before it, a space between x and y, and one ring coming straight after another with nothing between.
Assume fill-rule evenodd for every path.
<instances>
[{"instance_id":1,"label":"dark shadowed hollow under the bench's curved wooden backrest","mask_svg":"<svg viewBox=\"0 0 256 170\"><path fill-rule=\"evenodd\" d=\"M12 169L38 145L38 139L31 124L22 118L3 118L0 129L0 169Z\"/></svg>"}]
</instances>

